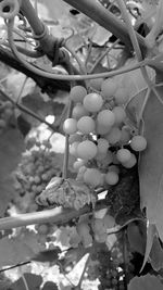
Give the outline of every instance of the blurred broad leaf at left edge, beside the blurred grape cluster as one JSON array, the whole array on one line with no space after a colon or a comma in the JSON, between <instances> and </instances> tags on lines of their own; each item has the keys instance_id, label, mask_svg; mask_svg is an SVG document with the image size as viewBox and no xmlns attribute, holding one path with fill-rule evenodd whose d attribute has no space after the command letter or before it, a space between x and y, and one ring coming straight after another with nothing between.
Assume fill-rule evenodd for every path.
<instances>
[{"instance_id":1,"label":"blurred broad leaf at left edge, beside the blurred grape cluster","mask_svg":"<svg viewBox=\"0 0 163 290\"><path fill-rule=\"evenodd\" d=\"M16 128L10 128L0 136L0 215L3 215L13 196L12 172L15 169L24 140Z\"/></svg>"}]
</instances>

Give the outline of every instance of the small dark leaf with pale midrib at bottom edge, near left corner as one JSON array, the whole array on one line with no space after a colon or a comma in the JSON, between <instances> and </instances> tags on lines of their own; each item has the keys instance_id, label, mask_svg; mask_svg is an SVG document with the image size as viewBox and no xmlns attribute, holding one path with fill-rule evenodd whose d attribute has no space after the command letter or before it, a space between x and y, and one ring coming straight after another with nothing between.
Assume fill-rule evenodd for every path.
<instances>
[{"instance_id":1,"label":"small dark leaf with pale midrib at bottom edge, near left corner","mask_svg":"<svg viewBox=\"0 0 163 290\"><path fill-rule=\"evenodd\" d=\"M42 277L40 275L35 275L30 273L25 273L24 278L26 280L26 283L28 286L28 290L39 290L40 285L42 283ZM20 278L17 281L15 281L12 285L12 290L23 290L24 288L24 281L22 278Z\"/></svg>"}]
</instances>

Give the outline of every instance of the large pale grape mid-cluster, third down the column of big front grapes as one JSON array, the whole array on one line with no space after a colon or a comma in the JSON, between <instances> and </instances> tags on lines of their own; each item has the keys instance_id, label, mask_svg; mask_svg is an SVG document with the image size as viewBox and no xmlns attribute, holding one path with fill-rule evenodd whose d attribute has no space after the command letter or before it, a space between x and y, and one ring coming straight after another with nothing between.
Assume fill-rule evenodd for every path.
<instances>
[{"instance_id":1,"label":"large pale grape mid-cluster, third down the column of big front grapes","mask_svg":"<svg viewBox=\"0 0 163 290\"><path fill-rule=\"evenodd\" d=\"M77 154L79 159L91 160L98 152L97 146L89 140L80 142L77 147Z\"/></svg>"}]
</instances>

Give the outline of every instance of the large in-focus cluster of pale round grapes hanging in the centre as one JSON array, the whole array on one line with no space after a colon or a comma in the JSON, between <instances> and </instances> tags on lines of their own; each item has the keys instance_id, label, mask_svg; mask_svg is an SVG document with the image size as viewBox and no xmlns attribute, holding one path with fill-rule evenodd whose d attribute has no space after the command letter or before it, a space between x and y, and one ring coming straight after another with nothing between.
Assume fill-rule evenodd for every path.
<instances>
[{"instance_id":1,"label":"large in-focus cluster of pale round grapes hanging in the centre","mask_svg":"<svg viewBox=\"0 0 163 290\"><path fill-rule=\"evenodd\" d=\"M90 92L82 86L72 88L72 117L65 119L63 129L70 135L70 153L76 157L77 180L93 189L108 188L118 182L121 167L136 165L137 153L146 149L147 140L127 124L126 88L116 79L90 85Z\"/></svg>"}]
</instances>

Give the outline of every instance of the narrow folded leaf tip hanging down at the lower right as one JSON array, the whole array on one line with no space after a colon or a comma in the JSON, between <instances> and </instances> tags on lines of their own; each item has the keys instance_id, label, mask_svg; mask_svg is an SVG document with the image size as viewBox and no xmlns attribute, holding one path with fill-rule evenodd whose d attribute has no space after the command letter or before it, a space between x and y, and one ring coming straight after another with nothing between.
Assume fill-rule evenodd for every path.
<instances>
[{"instance_id":1,"label":"narrow folded leaf tip hanging down at the lower right","mask_svg":"<svg viewBox=\"0 0 163 290\"><path fill-rule=\"evenodd\" d=\"M148 224L147 226L147 242L146 242L146 252L145 252L145 257L143 257L143 263L142 267L140 269L140 273L142 272L146 263L148 262L149 255L151 253L151 249L153 245L153 240L156 235L156 228L155 225Z\"/></svg>"}]
</instances>

